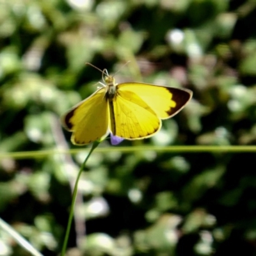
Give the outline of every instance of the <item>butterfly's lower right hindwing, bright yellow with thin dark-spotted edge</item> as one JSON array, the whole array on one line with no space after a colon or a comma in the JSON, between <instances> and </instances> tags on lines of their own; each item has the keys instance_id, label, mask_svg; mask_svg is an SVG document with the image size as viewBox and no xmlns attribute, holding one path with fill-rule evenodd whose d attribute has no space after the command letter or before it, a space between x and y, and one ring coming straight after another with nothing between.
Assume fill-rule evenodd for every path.
<instances>
[{"instance_id":1,"label":"butterfly's lower right hindwing, bright yellow with thin dark-spotted edge","mask_svg":"<svg viewBox=\"0 0 256 256\"><path fill-rule=\"evenodd\" d=\"M126 140L148 138L161 128L161 120L136 93L116 90L109 99L110 130Z\"/></svg>"}]
</instances>

